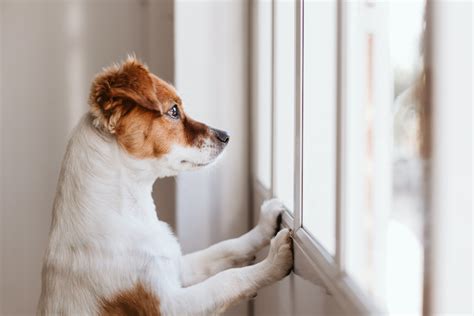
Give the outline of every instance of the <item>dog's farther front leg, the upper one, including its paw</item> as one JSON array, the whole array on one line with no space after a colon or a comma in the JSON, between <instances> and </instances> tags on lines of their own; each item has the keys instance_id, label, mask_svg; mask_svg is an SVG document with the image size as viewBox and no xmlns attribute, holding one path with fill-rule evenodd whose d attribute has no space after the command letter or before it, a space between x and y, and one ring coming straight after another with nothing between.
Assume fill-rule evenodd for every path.
<instances>
[{"instance_id":1,"label":"dog's farther front leg, the upper one, including its paw","mask_svg":"<svg viewBox=\"0 0 474 316\"><path fill-rule=\"evenodd\" d=\"M255 260L255 254L268 245L278 230L283 204L276 199L262 204L258 225L239 238L217 243L207 249L182 257L183 286L201 282L223 270L242 267Z\"/></svg>"}]
</instances>

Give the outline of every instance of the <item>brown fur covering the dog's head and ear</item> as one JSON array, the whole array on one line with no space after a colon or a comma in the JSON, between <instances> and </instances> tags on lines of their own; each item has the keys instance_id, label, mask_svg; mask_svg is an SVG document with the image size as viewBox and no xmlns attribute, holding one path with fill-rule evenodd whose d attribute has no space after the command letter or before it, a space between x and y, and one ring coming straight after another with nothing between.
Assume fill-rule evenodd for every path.
<instances>
[{"instance_id":1,"label":"brown fur covering the dog's head and ear","mask_svg":"<svg viewBox=\"0 0 474 316\"><path fill-rule=\"evenodd\" d=\"M97 75L89 103L95 126L115 134L136 158L159 158L173 143L199 147L212 137L205 124L185 115L174 87L134 58ZM174 105L179 108L179 120L166 115Z\"/></svg>"}]
</instances>

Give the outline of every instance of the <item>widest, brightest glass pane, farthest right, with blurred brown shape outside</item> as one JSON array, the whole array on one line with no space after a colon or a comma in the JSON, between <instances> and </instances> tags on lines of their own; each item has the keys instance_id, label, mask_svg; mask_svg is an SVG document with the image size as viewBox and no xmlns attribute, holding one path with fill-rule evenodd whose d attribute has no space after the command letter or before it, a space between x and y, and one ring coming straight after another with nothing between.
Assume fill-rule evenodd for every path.
<instances>
[{"instance_id":1,"label":"widest, brightest glass pane, farthest right, with blurred brown shape outside","mask_svg":"<svg viewBox=\"0 0 474 316\"><path fill-rule=\"evenodd\" d=\"M421 314L425 3L347 8L346 270L389 314Z\"/></svg>"}]
</instances>

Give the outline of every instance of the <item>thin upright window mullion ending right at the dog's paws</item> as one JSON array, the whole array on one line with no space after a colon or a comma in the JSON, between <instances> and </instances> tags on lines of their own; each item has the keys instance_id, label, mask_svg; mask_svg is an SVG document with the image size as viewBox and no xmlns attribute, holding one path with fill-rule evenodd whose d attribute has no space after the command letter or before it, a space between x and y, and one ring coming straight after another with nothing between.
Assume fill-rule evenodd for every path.
<instances>
[{"instance_id":1,"label":"thin upright window mullion ending right at the dog's paws","mask_svg":"<svg viewBox=\"0 0 474 316\"><path fill-rule=\"evenodd\" d=\"M303 219L303 0L296 1L295 10L295 168L294 168L294 230Z\"/></svg>"}]
</instances>

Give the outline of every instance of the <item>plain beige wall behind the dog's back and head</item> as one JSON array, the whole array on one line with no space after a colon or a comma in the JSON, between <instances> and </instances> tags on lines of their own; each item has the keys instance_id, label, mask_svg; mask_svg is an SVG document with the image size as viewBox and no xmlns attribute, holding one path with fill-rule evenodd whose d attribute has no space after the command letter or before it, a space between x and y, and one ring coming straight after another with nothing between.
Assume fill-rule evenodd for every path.
<instances>
[{"instance_id":1,"label":"plain beige wall behind the dog's back and head","mask_svg":"<svg viewBox=\"0 0 474 316\"><path fill-rule=\"evenodd\" d=\"M0 1L0 314L33 315L68 134L127 53L173 80L173 1ZM158 40L159 39L159 40ZM158 207L173 220L173 182Z\"/></svg>"}]
</instances>

